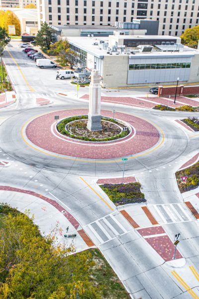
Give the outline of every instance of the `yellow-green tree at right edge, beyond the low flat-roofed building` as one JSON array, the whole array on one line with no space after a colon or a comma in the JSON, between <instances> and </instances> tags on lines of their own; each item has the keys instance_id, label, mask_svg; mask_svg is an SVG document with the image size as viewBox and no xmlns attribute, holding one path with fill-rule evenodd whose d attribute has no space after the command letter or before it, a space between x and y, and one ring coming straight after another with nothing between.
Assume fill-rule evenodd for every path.
<instances>
[{"instance_id":1,"label":"yellow-green tree at right edge, beyond the low flat-roofed building","mask_svg":"<svg viewBox=\"0 0 199 299\"><path fill-rule=\"evenodd\" d=\"M182 43L186 46L197 48L199 42L199 25L193 28L188 28L181 35Z\"/></svg>"}]
</instances>

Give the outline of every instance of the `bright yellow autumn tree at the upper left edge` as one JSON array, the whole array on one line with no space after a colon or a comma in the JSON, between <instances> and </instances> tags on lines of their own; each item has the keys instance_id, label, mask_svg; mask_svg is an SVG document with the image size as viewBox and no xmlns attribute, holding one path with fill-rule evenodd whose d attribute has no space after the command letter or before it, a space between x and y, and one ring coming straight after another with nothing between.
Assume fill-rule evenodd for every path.
<instances>
[{"instance_id":1,"label":"bright yellow autumn tree at the upper left edge","mask_svg":"<svg viewBox=\"0 0 199 299\"><path fill-rule=\"evenodd\" d=\"M0 10L0 27L5 28L8 32L8 25L14 25L16 35L21 34L20 21L15 13L10 10Z\"/></svg>"}]
</instances>

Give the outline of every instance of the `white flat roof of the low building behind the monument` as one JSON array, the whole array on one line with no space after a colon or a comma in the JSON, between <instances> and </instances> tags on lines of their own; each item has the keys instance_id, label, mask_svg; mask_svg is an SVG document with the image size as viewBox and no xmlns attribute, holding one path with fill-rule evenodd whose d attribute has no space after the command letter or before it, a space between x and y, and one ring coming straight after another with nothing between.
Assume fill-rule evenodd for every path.
<instances>
[{"instance_id":1,"label":"white flat roof of the low building behind the monument","mask_svg":"<svg viewBox=\"0 0 199 299\"><path fill-rule=\"evenodd\" d=\"M142 37L144 38L146 35L142 35ZM149 36L149 35L147 35ZM169 35L170 37L170 35ZM106 53L106 50L103 50L103 49L100 49L99 48L99 45L93 45L94 42L99 42L100 40L104 40L104 42L107 42L108 43L108 39L107 37L80 37L80 36L72 36L72 37L68 37L68 40L71 44L73 44L74 46L77 46L78 48L96 56L96 57L99 57L99 58L103 58L104 56L110 56L110 54L107 54ZM101 47L102 47L103 44L101 44ZM163 51L160 51L160 50L155 50L155 51L152 51L150 53L146 53L146 52L143 52L143 53L140 53L139 51L135 51L135 54L119 54L119 56L122 56L122 55L128 55L130 58L140 58L140 57L143 57L143 56L194 56L194 54L198 52L199 53L199 50L196 50L196 49L193 49L193 48L189 48L189 47L184 47L184 51L180 51L180 52L171 52L171 51L168 51L168 52L163 52ZM115 52L112 52L112 56L113 55L116 55ZM117 55L116 55L117 56Z\"/></svg>"}]
</instances>

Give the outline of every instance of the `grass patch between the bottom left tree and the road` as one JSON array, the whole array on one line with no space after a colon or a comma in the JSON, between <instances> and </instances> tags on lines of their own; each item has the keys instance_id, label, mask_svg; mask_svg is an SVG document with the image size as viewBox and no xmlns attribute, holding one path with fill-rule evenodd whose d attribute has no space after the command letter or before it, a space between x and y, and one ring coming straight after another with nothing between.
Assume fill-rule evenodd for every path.
<instances>
[{"instance_id":1,"label":"grass patch between the bottom left tree and the road","mask_svg":"<svg viewBox=\"0 0 199 299\"><path fill-rule=\"evenodd\" d=\"M127 299L130 298L120 280L102 256L98 249L89 249L96 265L92 269L91 280L94 285L102 289L102 298Z\"/></svg>"}]
</instances>

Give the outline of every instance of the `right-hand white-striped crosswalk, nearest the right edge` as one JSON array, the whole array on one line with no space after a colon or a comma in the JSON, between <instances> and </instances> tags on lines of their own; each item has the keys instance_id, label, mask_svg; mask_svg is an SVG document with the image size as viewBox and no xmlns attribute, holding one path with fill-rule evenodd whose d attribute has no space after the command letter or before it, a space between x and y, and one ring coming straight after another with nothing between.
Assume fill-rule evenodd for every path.
<instances>
[{"instance_id":1,"label":"right-hand white-striped crosswalk, nearest the right edge","mask_svg":"<svg viewBox=\"0 0 199 299\"><path fill-rule=\"evenodd\" d=\"M151 204L150 212L160 224L193 221L195 218L183 203Z\"/></svg>"}]
</instances>

